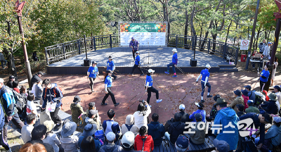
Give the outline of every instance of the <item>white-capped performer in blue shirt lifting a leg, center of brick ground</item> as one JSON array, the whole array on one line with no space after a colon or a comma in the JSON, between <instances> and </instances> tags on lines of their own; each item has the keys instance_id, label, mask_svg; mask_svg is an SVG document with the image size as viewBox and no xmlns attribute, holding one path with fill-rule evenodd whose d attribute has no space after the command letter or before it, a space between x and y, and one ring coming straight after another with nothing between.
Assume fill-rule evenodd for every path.
<instances>
[{"instance_id":1,"label":"white-capped performer in blue shirt lifting a leg, center of brick ground","mask_svg":"<svg viewBox=\"0 0 281 152\"><path fill-rule=\"evenodd\" d=\"M146 73L146 80L145 80L145 94L148 93L147 95L147 100L146 102L149 104L149 100L151 97L151 92L155 92L156 93L156 103L159 103L162 101L162 99L159 99L159 92L152 87L153 85L153 79L151 77L151 75L153 75L155 71L152 69L149 69L148 72Z\"/></svg>"}]
</instances>

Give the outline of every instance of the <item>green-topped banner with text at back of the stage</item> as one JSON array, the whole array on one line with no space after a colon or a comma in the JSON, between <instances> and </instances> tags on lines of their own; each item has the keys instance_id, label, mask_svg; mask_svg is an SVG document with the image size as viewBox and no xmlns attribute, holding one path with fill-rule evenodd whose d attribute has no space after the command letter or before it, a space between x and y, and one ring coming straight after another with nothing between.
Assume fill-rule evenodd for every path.
<instances>
[{"instance_id":1,"label":"green-topped banner with text at back of the stage","mask_svg":"<svg viewBox=\"0 0 281 152\"><path fill-rule=\"evenodd\" d=\"M166 23L120 23L120 46L129 46L132 37L140 46L166 46Z\"/></svg>"}]
</instances>

